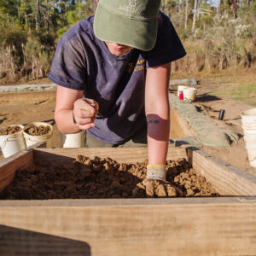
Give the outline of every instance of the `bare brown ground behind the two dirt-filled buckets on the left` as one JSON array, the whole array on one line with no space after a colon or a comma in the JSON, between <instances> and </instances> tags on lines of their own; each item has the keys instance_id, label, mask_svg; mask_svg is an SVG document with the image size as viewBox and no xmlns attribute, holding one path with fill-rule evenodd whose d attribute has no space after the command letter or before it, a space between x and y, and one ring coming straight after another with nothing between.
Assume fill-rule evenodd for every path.
<instances>
[{"instance_id":1,"label":"bare brown ground behind the two dirt-filled buckets on the left","mask_svg":"<svg viewBox=\"0 0 256 256\"><path fill-rule=\"evenodd\" d=\"M53 136L47 147L61 147L61 135L54 119L55 94L55 90L0 93L0 128L45 122L53 125Z\"/></svg>"}]
</instances>

